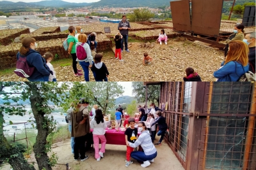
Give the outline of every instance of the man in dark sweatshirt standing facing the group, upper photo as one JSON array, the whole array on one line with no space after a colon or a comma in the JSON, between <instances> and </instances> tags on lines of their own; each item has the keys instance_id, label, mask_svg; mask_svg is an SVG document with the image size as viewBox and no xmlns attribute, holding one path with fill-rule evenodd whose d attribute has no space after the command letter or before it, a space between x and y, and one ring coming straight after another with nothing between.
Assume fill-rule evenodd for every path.
<instances>
[{"instance_id":1,"label":"man in dark sweatshirt standing facing the group, upper photo","mask_svg":"<svg viewBox=\"0 0 256 170\"><path fill-rule=\"evenodd\" d=\"M118 28L120 31L120 34L123 36L121 41L121 52L123 52L124 45L125 45L125 51L130 52L128 50L128 32L131 29L130 22L126 20L126 15L122 16L122 20L118 24Z\"/></svg>"}]
</instances>

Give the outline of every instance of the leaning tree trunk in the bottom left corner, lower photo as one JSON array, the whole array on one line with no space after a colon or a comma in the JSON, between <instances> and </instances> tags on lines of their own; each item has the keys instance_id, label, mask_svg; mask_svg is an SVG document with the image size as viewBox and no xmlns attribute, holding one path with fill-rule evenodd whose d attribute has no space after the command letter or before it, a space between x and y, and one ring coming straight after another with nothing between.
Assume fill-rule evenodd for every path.
<instances>
[{"instance_id":1,"label":"leaning tree trunk in the bottom left corner, lower photo","mask_svg":"<svg viewBox=\"0 0 256 170\"><path fill-rule=\"evenodd\" d=\"M29 165L24 159L23 154L19 151L19 148L11 145L11 143L8 142L4 137L3 122L3 112L0 111L0 160L8 159L8 163L12 166L13 170L35 170L35 167L33 165Z\"/></svg>"}]
</instances>

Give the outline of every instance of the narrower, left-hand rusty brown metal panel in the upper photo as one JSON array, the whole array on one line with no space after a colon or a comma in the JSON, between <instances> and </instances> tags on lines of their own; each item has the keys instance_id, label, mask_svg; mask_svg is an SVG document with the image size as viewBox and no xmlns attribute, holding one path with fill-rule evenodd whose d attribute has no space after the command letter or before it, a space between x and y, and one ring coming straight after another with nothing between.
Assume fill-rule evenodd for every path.
<instances>
[{"instance_id":1,"label":"narrower, left-hand rusty brown metal panel in the upper photo","mask_svg":"<svg viewBox=\"0 0 256 170\"><path fill-rule=\"evenodd\" d=\"M173 31L191 31L189 0L170 2Z\"/></svg>"}]
</instances>

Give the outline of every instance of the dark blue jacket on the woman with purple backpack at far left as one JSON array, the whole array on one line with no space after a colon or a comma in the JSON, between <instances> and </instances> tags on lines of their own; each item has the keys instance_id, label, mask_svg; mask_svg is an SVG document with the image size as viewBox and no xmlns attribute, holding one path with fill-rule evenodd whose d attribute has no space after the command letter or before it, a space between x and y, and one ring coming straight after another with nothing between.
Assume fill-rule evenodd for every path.
<instances>
[{"instance_id":1,"label":"dark blue jacket on the woman with purple backpack at far left","mask_svg":"<svg viewBox=\"0 0 256 170\"><path fill-rule=\"evenodd\" d=\"M27 57L28 66L35 67L33 74L28 78L29 81L50 75L51 70L47 66L45 59L36 50L29 48L29 52L26 55L20 55L20 52L18 52L16 55L17 60L19 60L19 57Z\"/></svg>"}]
</instances>

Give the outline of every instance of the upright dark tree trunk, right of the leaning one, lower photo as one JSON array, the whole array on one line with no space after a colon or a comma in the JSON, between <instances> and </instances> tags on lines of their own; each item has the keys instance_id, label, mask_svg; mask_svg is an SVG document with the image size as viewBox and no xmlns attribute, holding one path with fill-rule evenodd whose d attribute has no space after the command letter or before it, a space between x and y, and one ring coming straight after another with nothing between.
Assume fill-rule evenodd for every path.
<instances>
[{"instance_id":1,"label":"upright dark tree trunk, right of the leaning one, lower photo","mask_svg":"<svg viewBox=\"0 0 256 170\"><path fill-rule=\"evenodd\" d=\"M49 157L45 151L45 145L47 145L46 138L49 134L48 127L44 127L44 123L47 122L47 120L45 120L44 111L38 110L39 107L43 107L43 99L40 97L40 93L38 92L35 83L26 82L26 84L29 85L32 92L32 95L29 97L29 101L36 120L36 129L38 130L36 143L33 147L36 162L40 170L52 170L51 166L49 165Z\"/></svg>"}]
</instances>

